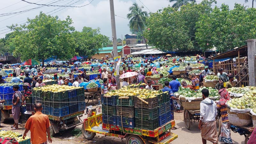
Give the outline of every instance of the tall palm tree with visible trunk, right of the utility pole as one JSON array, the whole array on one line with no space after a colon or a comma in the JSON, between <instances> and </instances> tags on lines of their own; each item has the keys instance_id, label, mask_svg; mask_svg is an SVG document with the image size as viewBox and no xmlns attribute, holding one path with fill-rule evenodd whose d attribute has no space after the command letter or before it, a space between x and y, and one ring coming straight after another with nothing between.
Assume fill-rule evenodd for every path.
<instances>
[{"instance_id":1,"label":"tall palm tree with visible trunk, right of the utility pole","mask_svg":"<svg viewBox=\"0 0 256 144\"><path fill-rule=\"evenodd\" d=\"M129 11L131 13L127 14L127 18L130 20L129 25L131 29L140 31L141 34L143 35L143 30L145 29L145 21L146 17L148 16L148 12L142 11L144 7L139 6L137 3L133 3L132 6L129 8ZM146 43L146 39L143 36L143 40ZM146 43L146 47L147 43Z\"/></svg>"}]
</instances>

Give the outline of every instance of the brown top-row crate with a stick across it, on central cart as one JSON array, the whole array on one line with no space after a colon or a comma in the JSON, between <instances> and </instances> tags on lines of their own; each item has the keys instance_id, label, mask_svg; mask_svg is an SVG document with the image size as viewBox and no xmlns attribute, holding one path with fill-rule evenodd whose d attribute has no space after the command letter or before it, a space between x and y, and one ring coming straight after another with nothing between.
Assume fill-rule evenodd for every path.
<instances>
[{"instance_id":1,"label":"brown top-row crate with a stick across it, on central cart","mask_svg":"<svg viewBox=\"0 0 256 144\"><path fill-rule=\"evenodd\" d=\"M148 98L143 99L148 102L148 105L144 102L142 102L137 96L134 97L134 107L135 108L156 108L158 106L158 98Z\"/></svg>"}]
</instances>

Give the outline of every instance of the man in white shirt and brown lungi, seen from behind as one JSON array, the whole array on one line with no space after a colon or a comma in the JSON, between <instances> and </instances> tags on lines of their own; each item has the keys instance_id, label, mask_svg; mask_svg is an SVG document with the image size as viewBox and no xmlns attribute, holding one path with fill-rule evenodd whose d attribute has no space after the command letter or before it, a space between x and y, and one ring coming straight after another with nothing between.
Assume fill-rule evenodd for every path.
<instances>
[{"instance_id":1,"label":"man in white shirt and brown lungi, seen from behind","mask_svg":"<svg viewBox=\"0 0 256 144\"><path fill-rule=\"evenodd\" d=\"M202 95L204 100L200 103L200 120L198 128L201 130L203 144L206 144L206 140L211 141L213 144L217 144L218 133L215 121L217 107L215 102L208 98L208 89L203 89Z\"/></svg>"}]
</instances>

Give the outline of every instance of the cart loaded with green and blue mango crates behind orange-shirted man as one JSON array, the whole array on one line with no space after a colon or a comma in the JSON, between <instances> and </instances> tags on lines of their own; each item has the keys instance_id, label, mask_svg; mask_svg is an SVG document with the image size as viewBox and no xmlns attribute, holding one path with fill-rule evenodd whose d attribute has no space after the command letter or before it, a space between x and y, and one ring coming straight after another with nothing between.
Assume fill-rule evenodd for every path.
<instances>
[{"instance_id":1,"label":"cart loaded with green and blue mango crates behind orange-shirted man","mask_svg":"<svg viewBox=\"0 0 256 144\"><path fill-rule=\"evenodd\" d=\"M83 124L80 117L85 110L84 87L47 85L34 88L31 98L31 104L26 104L27 110L30 106L33 115L36 102L43 105L42 113L50 119L51 136Z\"/></svg>"}]
</instances>

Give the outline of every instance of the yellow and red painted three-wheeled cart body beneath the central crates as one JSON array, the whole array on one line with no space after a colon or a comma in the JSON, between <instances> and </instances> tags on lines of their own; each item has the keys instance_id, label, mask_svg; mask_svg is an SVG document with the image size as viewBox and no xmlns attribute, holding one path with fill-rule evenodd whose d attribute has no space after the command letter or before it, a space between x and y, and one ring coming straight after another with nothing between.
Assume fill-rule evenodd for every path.
<instances>
[{"instance_id":1,"label":"yellow and red painted three-wheeled cart body beneath the central crates","mask_svg":"<svg viewBox=\"0 0 256 144\"><path fill-rule=\"evenodd\" d=\"M91 117L84 119L82 133L88 140L92 140L96 133L100 133L105 136L125 138L126 144L169 144L178 138L177 134L171 132L174 126L175 121L172 120L155 130L124 128L112 124L102 124L102 114L96 115L93 112Z\"/></svg>"}]
</instances>

